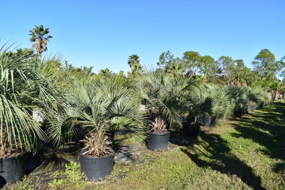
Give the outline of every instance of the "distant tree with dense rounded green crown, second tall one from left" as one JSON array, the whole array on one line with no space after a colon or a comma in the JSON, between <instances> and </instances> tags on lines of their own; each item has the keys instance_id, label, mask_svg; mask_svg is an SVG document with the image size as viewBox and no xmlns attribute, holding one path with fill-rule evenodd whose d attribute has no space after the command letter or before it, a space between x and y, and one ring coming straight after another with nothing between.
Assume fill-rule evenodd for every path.
<instances>
[{"instance_id":1,"label":"distant tree with dense rounded green crown, second tall one from left","mask_svg":"<svg viewBox=\"0 0 285 190\"><path fill-rule=\"evenodd\" d=\"M201 56L198 52L187 51L184 52L183 58L186 60L186 67L189 75L194 75L195 70L201 67Z\"/></svg>"}]
</instances>

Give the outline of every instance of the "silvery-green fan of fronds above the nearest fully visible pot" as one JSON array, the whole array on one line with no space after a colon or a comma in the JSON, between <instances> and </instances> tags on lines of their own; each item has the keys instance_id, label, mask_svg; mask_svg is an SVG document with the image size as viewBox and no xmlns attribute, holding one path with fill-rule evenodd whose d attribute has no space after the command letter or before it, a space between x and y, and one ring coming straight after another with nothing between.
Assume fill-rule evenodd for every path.
<instances>
[{"instance_id":1,"label":"silvery-green fan of fronds above the nearest fully visible pot","mask_svg":"<svg viewBox=\"0 0 285 190\"><path fill-rule=\"evenodd\" d=\"M84 83L78 82L77 89L74 105L79 111L78 124L95 134L126 128L131 131L134 144L142 142L144 112L130 90L112 78L97 82L86 79ZM106 141L105 137L101 140Z\"/></svg>"}]
</instances>

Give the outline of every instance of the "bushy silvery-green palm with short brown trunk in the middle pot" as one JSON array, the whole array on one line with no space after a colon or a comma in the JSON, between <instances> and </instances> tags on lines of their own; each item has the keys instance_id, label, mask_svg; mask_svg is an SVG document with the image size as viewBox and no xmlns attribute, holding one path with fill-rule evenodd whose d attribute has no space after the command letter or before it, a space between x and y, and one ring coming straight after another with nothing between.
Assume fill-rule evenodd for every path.
<instances>
[{"instance_id":1,"label":"bushy silvery-green palm with short brown trunk in the middle pot","mask_svg":"<svg viewBox=\"0 0 285 190\"><path fill-rule=\"evenodd\" d=\"M181 115L188 105L188 97L198 88L194 78L184 75L169 76L163 70L146 69L137 79L141 90L141 104L152 119L152 131L167 132L182 126Z\"/></svg>"}]
</instances>

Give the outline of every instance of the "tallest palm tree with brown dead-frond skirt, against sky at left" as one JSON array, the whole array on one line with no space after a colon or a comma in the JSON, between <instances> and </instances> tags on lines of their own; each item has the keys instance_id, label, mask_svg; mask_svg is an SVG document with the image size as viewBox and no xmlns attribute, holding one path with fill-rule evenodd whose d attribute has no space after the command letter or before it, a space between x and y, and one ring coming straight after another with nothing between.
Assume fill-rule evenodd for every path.
<instances>
[{"instance_id":1,"label":"tallest palm tree with brown dead-frond skirt, against sky at left","mask_svg":"<svg viewBox=\"0 0 285 190\"><path fill-rule=\"evenodd\" d=\"M32 46L36 48L36 52L39 54L39 59L42 58L42 52L45 52L48 50L46 47L46 42L49 41L52 36L48 35L49 33L49 28L44 28L44 26L36 26L36 28L33 28L32 30L29 30L30 32L30 42L35 42Z\"/></svg>"}]
</instances>

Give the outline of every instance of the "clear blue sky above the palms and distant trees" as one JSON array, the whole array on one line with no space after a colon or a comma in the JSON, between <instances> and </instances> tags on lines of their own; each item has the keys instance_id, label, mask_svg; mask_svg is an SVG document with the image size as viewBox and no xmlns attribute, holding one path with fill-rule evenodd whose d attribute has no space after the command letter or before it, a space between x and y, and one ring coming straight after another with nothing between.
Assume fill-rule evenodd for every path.
<instances>
[{"instance_id":1,"label":"clear blue sky above the palms and distant trees","mask_svg":"<svg viewBox=\"0 0 285 190\"><path fill-rule=\"evenodd\" d=\"M42 24L48 53L74 66L129 71L128 56L156 64L170 50L232 56L248 67L261 49L285 55L285 1L1 1L0 44L30 47L28 30Z\"/></svg>"}]
</instances>

